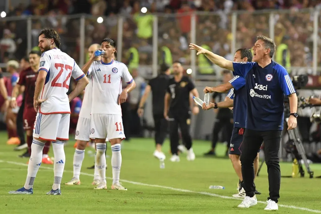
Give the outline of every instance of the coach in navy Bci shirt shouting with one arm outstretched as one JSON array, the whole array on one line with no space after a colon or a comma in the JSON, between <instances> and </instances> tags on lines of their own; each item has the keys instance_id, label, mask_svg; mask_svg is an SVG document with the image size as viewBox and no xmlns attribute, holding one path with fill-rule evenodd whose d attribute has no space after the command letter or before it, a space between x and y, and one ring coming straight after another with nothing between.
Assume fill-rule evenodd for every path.
<instances>
[{"instance_id":1,"label":"coach in navy Bci shirt shouting with one arm outstretched","mask_svg":"<svg viewBox=\"0 0 321 214\"><path fill-rule=\"evenodd\" d=\"M284 121L283 98L284 95L289 96L290 101L288 130L297 125L298 98L285 68L272 60L276 47L273 40L265 36L258 36L256 39L252 48L253 62L246 63L231 62L195 44L190 44L189 47L195 49L197 55L204 54L214 64L245 78L247 120L240 159L246 197L238 207L249 208L257 204L253 161L264 141L270 192L265 210L278 210L281 183L278 153Z\"/></svg>"}]
</instances>

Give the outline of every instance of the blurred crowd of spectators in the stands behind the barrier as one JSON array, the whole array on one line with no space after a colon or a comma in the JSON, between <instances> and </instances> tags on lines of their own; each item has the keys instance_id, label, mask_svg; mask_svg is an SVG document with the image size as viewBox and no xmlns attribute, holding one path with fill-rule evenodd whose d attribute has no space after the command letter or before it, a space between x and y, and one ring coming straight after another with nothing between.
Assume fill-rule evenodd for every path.
<instances>
[{"instance_id":1,"label":"blurred crowd of spectators in the stands behind the barrier","mask_svg":"<svg viewBox=\"0 0 321 214\"><path fill-rule=\"evenodd\" d=\"M19 4L10 8L7 16L22 16L21 20L0 23L0 38L2 38L0 63L13 58L20 60L26 54L27 24L23 17L28 15L47 16L44 19L32 20L32 47L37 46L39 29L53 27L61 35L62 50L78 62L80 15L71 18L59 15L85 13L93 16L93 18L86 17L85 47L99 43L105 37L117 40L117 15L122 15L126 17L123 24L122 61L128 64L129 53L137 49L139 56L134 63L152 65L152 20L153 13L158 13L159 51L163 50L162 47L168 47L166 51L170 53L169 62L178 60L188 65L190 13L202 11L197 15L196 43L204 45L213 53L231 59L230 47L233 36L236 37L236 48L250 48L257 35L269 35L270 13L258 10L289 9L287 12L274 13L275 42L278 46L287 45L290 53L287 67L312 66L313 13L307 9L321 7L321 3L317 0L31 0L30 2L30 5ZM141 13L142 7L147 8L147 13ZM236 35L232 35L230 12L235 10L245 10L247 13L238 14ZM98 23L98 16L105 16L105 21ZM320 46L321 32L318 33ZM321 64L320 50L321 48L318 48L318 65ZM202 63L200 61L201 59L198 59L199 65Z\"/></svg>"}]
</instances>

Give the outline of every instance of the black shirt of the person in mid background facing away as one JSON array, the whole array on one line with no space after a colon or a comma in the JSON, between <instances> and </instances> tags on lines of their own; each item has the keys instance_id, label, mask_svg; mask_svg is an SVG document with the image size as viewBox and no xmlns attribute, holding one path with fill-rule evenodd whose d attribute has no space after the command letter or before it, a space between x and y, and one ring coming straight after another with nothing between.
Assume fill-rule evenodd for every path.
<instances>
[{"instance_id":1,"label":"black shirt of the person in mid background facing away","mask_svg":"<svg viewBox=\"0 0 321 214\"><path fill-rule=\"evenodd\" d=\"M151 79L149 85L152 89L152 103L153 103L153 115L164 114L164 97L166 88L168 85L169 76L166 74L160 74L159 76Z\"/></svg>"}]
</instances>

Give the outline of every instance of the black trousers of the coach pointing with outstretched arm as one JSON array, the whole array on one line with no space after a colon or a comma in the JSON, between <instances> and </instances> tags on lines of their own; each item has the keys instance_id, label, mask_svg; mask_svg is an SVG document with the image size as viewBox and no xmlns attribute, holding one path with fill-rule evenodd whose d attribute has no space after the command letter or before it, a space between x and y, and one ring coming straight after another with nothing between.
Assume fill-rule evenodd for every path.
<instances>
[{"instance_id":1,"label":"black trousers of the coach pointing with outstretched arm","mask_svg":"<svg viewBox=\"0 0 321 214\"><path fill-rule=\"evenodd\" d=\"M279 130L254 131L245 129L240 159L242 164L243 187L247 196L254 196L255 184L253 162L257 155L257 150L261 147L262 141L264 141L264 155L270 192L268 200L271 199L278 202L278 199L280 198L281 182L281 169L279 164L281 137L282 131Z\"/></svg>"}]
</instances>

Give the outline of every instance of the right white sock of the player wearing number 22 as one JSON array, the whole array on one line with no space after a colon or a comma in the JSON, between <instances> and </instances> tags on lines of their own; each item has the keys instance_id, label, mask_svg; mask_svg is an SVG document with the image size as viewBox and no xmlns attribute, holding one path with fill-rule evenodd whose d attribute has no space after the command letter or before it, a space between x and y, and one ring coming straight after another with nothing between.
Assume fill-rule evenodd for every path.
<instances>
[{"instance_id":1,"label":"right white sock of the player wearing number 22","mask_svg":"<svg viewBox=\"0 0 321 214\"><path fill-rule=\"evenodd\" d=\"M64 173L66 156L64 150L64 141L56 140L52 141L52 149L54 151L54 184L52 189L60 189L62 175Z\"/></svg>"}]
</instances>

